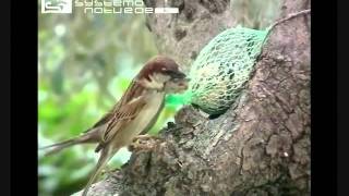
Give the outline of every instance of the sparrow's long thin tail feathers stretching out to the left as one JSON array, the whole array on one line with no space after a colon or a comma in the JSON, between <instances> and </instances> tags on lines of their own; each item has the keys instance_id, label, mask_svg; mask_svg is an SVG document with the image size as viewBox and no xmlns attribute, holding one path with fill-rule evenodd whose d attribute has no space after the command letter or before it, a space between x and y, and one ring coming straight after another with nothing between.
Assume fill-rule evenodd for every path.
<instances>
[{"instance_id":1,"label":"sparrow's long thin tail feathers stretching out to the left","mask_svg":"<svg viewBox=\"0 0 349 196\"><path fill-rule=\"evenodd\" d=\"M68 140L63 140L49 146L40 147L39 150L48 149L48 151L45 155L50 156L68 147L71 147L77 144L85 144L85 143L98 143L98 135L96 135L94 132L87 132L84 135L81 135L72 139L68 139Z\"/></svg>"}]
</instances>

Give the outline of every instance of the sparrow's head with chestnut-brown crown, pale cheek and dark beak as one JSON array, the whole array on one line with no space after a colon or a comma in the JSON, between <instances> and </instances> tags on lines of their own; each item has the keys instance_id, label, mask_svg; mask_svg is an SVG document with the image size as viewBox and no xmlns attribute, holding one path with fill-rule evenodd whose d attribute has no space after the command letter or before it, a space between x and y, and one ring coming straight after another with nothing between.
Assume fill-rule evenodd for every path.
<instances>
[{"instance_id":1,"label":"sparrow's head with chestnut-brown crown, pale cheek and dark beak","mask_svg":"<svg viewBox=\"0 0 349 196\"><path fill-rule=\"evenodd\" d=\"M139 74L139 81L145 88L181 93L188 88L189 79L170 58L157 56L148 61Z\"/></svg>"}]
</instances>

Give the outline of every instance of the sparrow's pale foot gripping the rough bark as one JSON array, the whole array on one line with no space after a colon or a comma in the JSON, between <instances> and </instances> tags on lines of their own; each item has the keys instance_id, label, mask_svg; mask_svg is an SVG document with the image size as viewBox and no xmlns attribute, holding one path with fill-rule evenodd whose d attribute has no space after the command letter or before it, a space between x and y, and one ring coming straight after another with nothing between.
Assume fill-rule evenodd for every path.
<instances>
[{"instance_id":1,"label":"sparrow's pale foot gripping the rough bark","mask_svg":"<svg viewBox=\"0 0 349 196\"><path fill-rule=\"evenodd\" d=\"M139 135L133 138L132 144L129 146L130 151L151 151L160 142L158 136L153 135Z\"/></svg>"}]
</instances>

